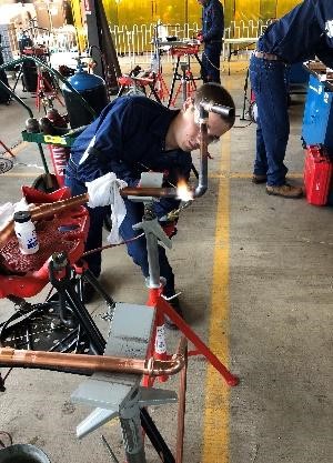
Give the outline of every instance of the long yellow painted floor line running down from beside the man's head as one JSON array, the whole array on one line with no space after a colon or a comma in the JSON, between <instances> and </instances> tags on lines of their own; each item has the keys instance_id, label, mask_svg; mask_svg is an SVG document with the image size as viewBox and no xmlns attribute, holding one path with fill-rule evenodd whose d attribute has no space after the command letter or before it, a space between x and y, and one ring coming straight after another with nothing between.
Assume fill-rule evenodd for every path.
<instances>
[{"instance_id":1,"label":"long yellow painted floor line running down from beside the man's head","mask_svg":"<svg viewBox=\"0 0 333 463\"><path fill-rule=\"evenodd\" d=\"M230 171L230 132L222 139L220 171ZM229 177L219 182L209 346L229 361ZM201 463L229 462L229 386L208 365Z\"/></svg>"}]
</instances>

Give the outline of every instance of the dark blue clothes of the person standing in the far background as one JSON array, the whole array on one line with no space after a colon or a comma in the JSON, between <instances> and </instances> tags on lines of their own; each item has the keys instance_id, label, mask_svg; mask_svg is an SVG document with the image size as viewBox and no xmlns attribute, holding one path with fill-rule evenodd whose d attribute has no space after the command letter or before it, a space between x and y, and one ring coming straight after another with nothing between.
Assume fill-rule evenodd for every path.
<instances>
[{"instance_id":1,"label":"dark blue clothes of the person standing in the far background","mask_svg":"<svg viewBox=\"0 0 333 463\"><path fill-rule=\"evenodd\" d=\"M208 0L202 9L202 53L203 82L218 82L220 79L220 56L224 33L223 7L219 0Z\"/></svg>"}]
</instances>

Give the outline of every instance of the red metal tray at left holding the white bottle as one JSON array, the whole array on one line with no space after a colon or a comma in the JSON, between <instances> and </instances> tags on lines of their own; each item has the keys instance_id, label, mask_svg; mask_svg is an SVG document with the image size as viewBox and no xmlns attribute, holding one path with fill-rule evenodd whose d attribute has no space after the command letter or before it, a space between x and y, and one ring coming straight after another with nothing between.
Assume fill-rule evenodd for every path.
<instances>
[{"instance_id":1,"label":"red metal tray at left holding the white bottle","mask_svg":"<svg viewBox=\"0 0 333 463\"><path fill-rule=\"evenodd\" d=\"M22 187L22 192L27 202L36 205L70 198L67 187L53 193ZM51 218L38 220L36 229L40 244L36 254L22 255L14 234L0 246L0 299L37 295L49 282L49 260L54 252L64 251L70 264L74 265L84 252L89 214L83 205L63 209Z\"/></svg>"}]
</instances>

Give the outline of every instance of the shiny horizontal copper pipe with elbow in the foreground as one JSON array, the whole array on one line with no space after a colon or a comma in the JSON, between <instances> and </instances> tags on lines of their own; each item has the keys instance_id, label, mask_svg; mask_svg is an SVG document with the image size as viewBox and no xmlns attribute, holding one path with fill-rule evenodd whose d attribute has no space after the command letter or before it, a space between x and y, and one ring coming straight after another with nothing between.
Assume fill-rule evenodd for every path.
<instances>
[{"instance_id":1,"label":"shiny horizontal copper pipe with elbow in the foreground","mask_svg":"<svg viewBox=\"0 0 333 463\"><path fill-rule=\"evenodd\" d=\"M57 370L81 370L94 372L124 372L148 374L150 376L172 375L185 363L186 340L182 338L178 351L171 360L122 359L109 355L68 354L60 352L23 351L12 348L0 348L0 365L18 368L50 368Z\"/></svg>"}]
</instances>

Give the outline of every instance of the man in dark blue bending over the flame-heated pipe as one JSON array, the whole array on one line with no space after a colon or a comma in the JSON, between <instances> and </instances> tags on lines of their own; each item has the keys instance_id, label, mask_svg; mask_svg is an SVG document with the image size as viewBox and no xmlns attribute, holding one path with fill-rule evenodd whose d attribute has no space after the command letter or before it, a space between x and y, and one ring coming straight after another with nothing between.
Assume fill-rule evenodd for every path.
<instances>
[{"instance_id":1,"label":"man in dark blue bending over the flame-heated pipe","mask_svg":"<svg viewBox=\"0 0 333 463\"><path fill-rule=\"evenodd\" d=\"M95 180L108 172L129 187L138 187L141 173L159 171L164 174L164 185L176 185L180 179L188 180L191 170L191 151L200 147L198 112L201 100L213 101L234 108L229 92L219 84L206 83L189 98L181 110L170 110L145 97L121 97L112 101L81 135L71 150L67 169L65 184L73 195L87 191L85 182ZM208 121L208 142L219 140L234 123L234 118L210 113ZM127 214L119 228L123 240L140 232L132 225L142 221L142 202L124 199ZM155 203L158 218L165 215L179 205L174 199L163 198ZM97 249L102 243L104 208L90 209L90 231L85 249ZM128 253L140 265L143 275L149 274L145 239L127 243ZM165 255L159 246L160 274L165 279L164 295L175 294L174 274ZM101 253L87 256L89 269L99 276ZM91 286L84 289L85 302L91 299ZM178 299L171 301L181 313Z\"/></svg>"}]
</instances>

